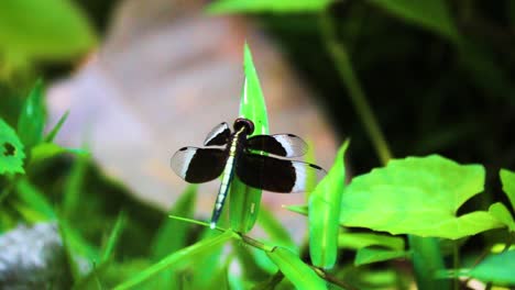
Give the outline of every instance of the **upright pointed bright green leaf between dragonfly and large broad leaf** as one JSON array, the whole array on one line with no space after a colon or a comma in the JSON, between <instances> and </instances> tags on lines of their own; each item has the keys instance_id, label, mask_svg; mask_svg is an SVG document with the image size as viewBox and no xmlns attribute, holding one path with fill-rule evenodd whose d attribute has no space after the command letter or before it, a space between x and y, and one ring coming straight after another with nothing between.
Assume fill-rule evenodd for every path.
<instances>
[{"instance_id":1,"label":"upright pointed bright green leaf between dragonfly and large broad leaf","mask_svg":"<svg viewBox=\"0 0 515 290\"><path fill-rule=\"evenodd\" d=\"M309 197L309 256L315 266L330 269L338 254L341 196L346 185L346 141L338 150L329 174L318 183Z\"/></svg>"}]
</instances>

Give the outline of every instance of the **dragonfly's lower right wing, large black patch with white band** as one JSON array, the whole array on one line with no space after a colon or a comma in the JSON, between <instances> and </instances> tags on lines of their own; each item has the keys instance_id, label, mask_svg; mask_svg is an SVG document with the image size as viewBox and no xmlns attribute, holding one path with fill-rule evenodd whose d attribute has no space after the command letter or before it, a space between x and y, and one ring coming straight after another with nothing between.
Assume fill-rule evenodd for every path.
<instances>
[{"instance_id":1,"label":"dragonfly's lower right wing, large black patch with white band","mask_svg":"<svg viewBox=\"0 0 515 290\"><path fill-rule=\"evenodd\" d=\"M326 175L313 164L250 153L240 156L235 171L248 186L281 193L313 191Z\"/></svg>"}]
</instances>

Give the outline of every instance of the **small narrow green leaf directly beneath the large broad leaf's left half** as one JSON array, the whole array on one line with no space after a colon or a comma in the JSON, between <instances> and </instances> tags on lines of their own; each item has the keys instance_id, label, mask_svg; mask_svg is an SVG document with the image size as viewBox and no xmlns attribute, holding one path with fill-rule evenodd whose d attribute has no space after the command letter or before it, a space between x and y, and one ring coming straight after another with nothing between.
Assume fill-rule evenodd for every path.
<instances>
[{"instance_id":1,"label":"small narrow green leaf directly beneath the large broad leaf's left half","mask_svg":"<svg viewBox=\"0 0 515 290\"><path fill-rule=\"evenodd\" d=\"M374 233L341 233L338 245L342 248L360 249L370 246L381 246L395 250L404 249L404 239Z\"/></svg>"}]
</instances>

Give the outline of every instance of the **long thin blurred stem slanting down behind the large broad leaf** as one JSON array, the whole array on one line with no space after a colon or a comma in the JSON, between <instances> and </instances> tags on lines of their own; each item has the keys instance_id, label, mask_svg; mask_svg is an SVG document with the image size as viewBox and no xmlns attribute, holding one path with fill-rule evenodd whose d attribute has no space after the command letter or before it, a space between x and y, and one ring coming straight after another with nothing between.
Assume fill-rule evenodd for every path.
<instances>
[{"instance_id":1,"label":"long thin blurred stem slanting down behind the large broad leaf","mask_svg":"<svg viewBox=\"0 0 515 290\"><path fill-rule=\"evenodd\" d=\"M346 85L349 98L351 99L354 110L361 119L361 122L375 147L375 150L383 165L392 159L392 153L386 144L383 132L379 126L377 120L372 112L371 107L366 100L364 91L358 80L358 77L352 69L350 57L346 46L337 41L335 26L331 18L324 14L320 20L320 29L324 36L324 42L329 51L332 60L336 64L336 69L340 76L341 81Z\"/></svg>"}]
</instances>

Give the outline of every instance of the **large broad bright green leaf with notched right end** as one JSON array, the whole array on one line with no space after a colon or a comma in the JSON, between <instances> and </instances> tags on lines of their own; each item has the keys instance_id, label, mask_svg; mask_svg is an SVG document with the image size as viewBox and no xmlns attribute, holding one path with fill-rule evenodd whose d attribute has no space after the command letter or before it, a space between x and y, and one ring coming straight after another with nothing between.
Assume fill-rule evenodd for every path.
<instances>
[{"instance_id":1,"label":"large broad bright green leaf with notched right end","mask_svg":"<svg viewBox=\"0 0 515 290\"><path fill-rule=\"evenodd\" d=\"M474 235L502 226L484 211L456 216L483 185L481 165L459 165L438 155L392 160L346 188L340 223L451 239Z\"/></svg>"}]
</instances>

